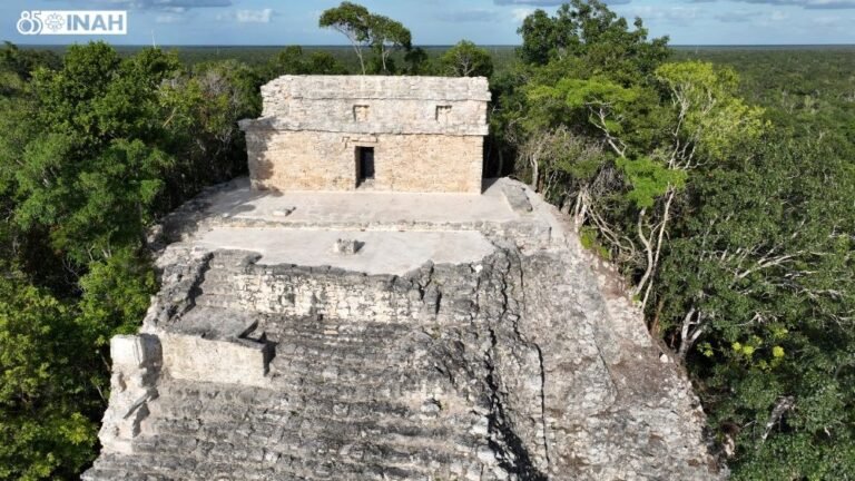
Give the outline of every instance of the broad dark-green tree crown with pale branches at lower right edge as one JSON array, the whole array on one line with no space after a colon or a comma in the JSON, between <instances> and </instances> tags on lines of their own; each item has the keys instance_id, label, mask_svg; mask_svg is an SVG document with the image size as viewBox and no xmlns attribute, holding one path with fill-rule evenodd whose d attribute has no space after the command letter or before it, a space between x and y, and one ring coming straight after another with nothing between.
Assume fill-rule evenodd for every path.
<instances>
[{"instance_id":1,"label":"broad dark-green tree crown with pale branches at lower right edge","mask_svg":"<svg viewBox=\"0 0 855 481\"><path fill-rule=\"evenodd\" d=\"M705 169L658 282L735 479L855 472L855 168L764 136Z\"/></svg>"}]
</instances>

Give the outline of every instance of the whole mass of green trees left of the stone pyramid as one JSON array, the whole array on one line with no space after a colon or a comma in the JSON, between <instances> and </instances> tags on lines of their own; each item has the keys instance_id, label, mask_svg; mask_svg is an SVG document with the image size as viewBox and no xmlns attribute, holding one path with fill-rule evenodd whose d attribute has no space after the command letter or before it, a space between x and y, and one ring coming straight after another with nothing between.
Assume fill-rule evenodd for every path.
<instances>
[{"instance_id":1,"label":"whole mass of green trees left of the stone pyramid","mask_svg":"<svg viewBox=\"0 0 855 481\"><path fill-rule=\"evenodd\" d=\"M0 55L0 479L73 479L96 454L107 341L156 291L147 229L245 168L261 76L144 49Z\"/></svg>"}]
</instances>

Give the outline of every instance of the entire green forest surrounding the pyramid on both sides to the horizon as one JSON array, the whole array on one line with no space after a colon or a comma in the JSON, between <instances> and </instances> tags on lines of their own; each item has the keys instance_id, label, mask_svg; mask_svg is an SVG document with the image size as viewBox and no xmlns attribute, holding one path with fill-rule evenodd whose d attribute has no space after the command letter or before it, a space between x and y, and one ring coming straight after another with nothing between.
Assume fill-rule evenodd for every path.
<instances>
[{"instance_id":1,"label":"entire green forest surrounding the pyramid on both sides to the horizon","mask_svg":"<svg viewBox=\"0 0 855 481\"><path fill-rule=\"evenodd\" d=\"M597 0L515 49L417 48L348 2L318 27L353 48L0 50L0 479L95 458L148 229L244 174L259 86L363 72L490 78L488 175L620 268L735 479L855 477L855 49L674 49Z\"/></svg>"}]
</instances>

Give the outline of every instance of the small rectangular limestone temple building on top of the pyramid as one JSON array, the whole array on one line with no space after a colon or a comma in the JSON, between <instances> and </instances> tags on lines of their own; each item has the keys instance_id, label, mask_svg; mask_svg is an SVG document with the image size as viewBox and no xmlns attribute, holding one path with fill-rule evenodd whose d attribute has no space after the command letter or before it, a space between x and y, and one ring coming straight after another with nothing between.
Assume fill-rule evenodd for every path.
<instances>
[{"instance_id":1,"label":"small rectangular limestone temple building on top of the pyramid","mask_svg":"<svg viewBox=\"0 0 855 481\"><path fill-rule=\"evenodd\" d=\"M372 189L481 193L485 78L283 76L262 96L240 122L256 188L356 189L371 148Z\"/></svg>"}]
</instances>

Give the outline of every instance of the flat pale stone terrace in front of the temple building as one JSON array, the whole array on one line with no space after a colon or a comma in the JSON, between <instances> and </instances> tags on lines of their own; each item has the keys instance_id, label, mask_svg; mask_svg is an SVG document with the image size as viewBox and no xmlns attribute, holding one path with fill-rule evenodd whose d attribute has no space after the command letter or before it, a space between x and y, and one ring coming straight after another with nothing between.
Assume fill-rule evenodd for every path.
<instances>
[{"instance_id":1,"label":"flat pale stone terrace in front of the temple building","mask_svg":"<svg viewBox=\"0 0 855 481\"><path fill-rule=\"evenodd\" d=\"M168 242L257 252L259 264L332 266L403 275L425 262L476 262L492 237L547 240L518 185L488 180L482 195L253 190L246 178L186 205L165 223ZM338 239L355 242L342 254Z\"/></svg>"}]
</instances>

